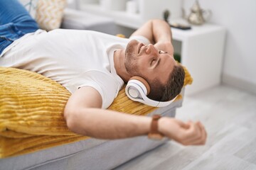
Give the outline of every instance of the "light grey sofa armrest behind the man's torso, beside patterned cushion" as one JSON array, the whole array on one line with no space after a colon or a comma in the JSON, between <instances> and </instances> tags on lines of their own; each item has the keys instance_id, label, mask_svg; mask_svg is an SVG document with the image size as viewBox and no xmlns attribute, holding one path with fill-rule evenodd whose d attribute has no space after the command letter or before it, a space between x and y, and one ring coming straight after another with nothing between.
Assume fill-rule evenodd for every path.
<instances>
[{"instance_id":1,"label":"light grey sofa armrest behind the man's torso, beside patterned cushion","mask_svg":"<svg viewBox=\"0 0 256 170\"><path fill-rule=\"evenodd\" d=\"M96 30L116 35L116 25L112 18L97 16L85 11L66 8L61 28L77 30Z\"/></svg>"}]
</instances>

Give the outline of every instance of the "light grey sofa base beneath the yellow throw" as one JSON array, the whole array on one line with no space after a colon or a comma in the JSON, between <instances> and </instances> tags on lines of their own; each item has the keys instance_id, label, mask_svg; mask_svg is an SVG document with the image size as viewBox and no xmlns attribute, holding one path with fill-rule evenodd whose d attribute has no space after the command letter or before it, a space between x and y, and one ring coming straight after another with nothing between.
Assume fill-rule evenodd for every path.
<instances>
[{"instance_id":1,"label":"light grey sofa base beneath the yellow throw","mask_svg":"<svg viewBox=\"0 0 256 170\"><path fill-rule=\"evenodd\" d=\"M156 109L148 116L158 113L174 117L176 108L181 107L181 104L182 100L176 101L169 106ZM0 159L0 169L114 169L139 154L163 145L166 141L167 139L149 140L146 136L123 140L82 140L31 154Z\"/></svg>"}]
</instances>

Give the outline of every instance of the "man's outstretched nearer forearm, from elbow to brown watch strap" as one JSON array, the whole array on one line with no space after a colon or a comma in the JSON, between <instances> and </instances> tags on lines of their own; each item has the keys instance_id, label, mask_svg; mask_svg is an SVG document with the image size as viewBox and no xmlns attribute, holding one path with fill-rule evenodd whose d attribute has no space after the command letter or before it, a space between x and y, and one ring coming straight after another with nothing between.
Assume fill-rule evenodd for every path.
<instances>
[{"instance_id":1,"label":"man's outstretched nearer forearm, from elbow to brown watch strap","mask_svg":"<svg viewBox=\"0 0 256 170\"><path fill-rule=\"evenodd\" d=\"M67 119L68 127L81 135L100 139L119 139L147 135L151 118L117 113L99 108L84 108Z\"/></svg>"}]
</instances>

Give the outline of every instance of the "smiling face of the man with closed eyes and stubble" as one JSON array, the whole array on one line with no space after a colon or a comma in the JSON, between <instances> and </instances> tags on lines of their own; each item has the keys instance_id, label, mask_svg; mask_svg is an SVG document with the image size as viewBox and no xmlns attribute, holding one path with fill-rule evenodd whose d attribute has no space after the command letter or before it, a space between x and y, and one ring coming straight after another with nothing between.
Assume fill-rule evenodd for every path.
<instances>
[{"instance_id":1,"label":"smiling face of the man with closed eyes and stubble","mask_svg":"<svg viewBox=\"0 0 256 170\"><path fill-rule=\"evenodd\" d=\"M144 77L147 81L159 79L166 84L176 61L173 54L158 50L154 45L144 45L131 40L125 50L124 65L132 76Z\"/></svg>"}]
</instances>

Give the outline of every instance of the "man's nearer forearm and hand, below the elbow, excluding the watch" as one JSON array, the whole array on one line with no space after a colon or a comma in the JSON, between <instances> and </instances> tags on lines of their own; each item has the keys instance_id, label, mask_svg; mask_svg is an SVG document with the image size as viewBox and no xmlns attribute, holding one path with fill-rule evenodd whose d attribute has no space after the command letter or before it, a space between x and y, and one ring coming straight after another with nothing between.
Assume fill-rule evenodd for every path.
<instances>
[{"instance_id":1,"label":"man's nearer forearm and hand, below the elbow, excluding the watch","mask_svg":"<svg viewBox=\"0 0 256 170\"><path fill-rule=\"evenodd\" d=\"M99 108L85 108L65 118L70 130L100 139L121 139L139 135L147 135L151 118L129 115ZM200 122L183 123L174 118L163 117L159 120L159 132L169 139L183 145L203 145L206 142L206 130Z\"/></svg>"}]
</instances>

